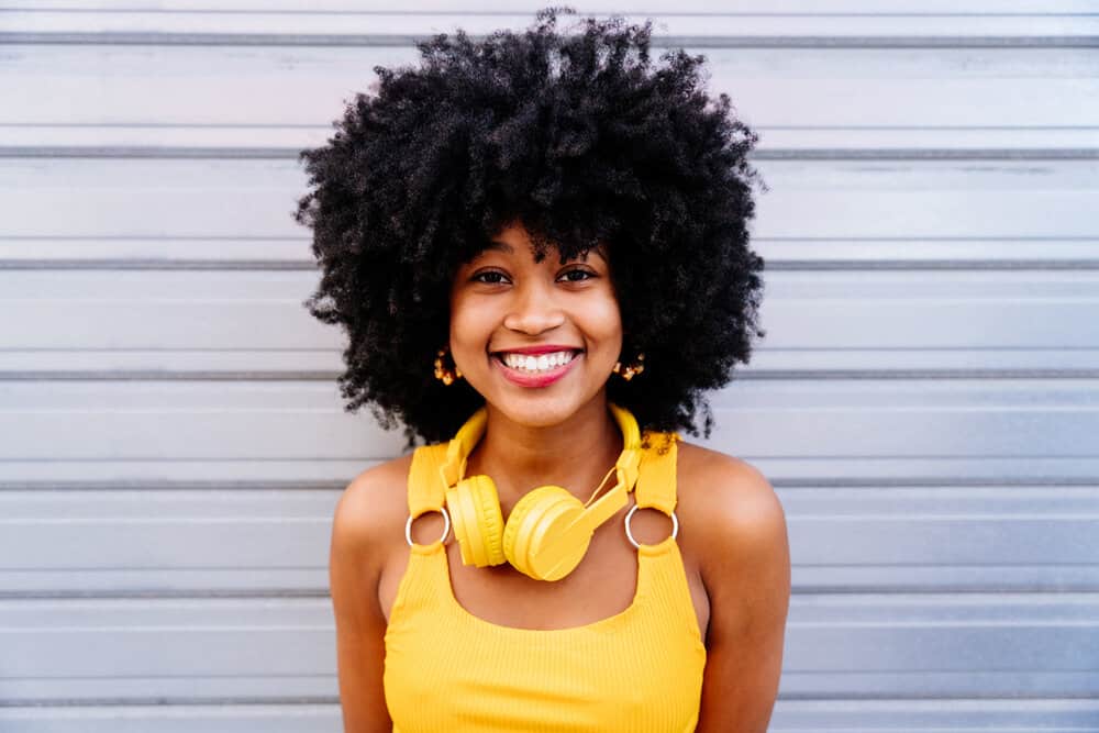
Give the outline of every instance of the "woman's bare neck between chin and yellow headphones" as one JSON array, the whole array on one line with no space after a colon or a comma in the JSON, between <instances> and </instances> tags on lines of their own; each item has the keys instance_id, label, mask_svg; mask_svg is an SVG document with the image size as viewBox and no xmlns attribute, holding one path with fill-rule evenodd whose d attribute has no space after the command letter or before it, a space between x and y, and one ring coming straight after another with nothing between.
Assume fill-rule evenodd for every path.
<instances>
[{"instance_id":1,"label":"woman's bare neck between chin and yellow headphones","mask_svg":"<svg viewBox=\"0 0 1099 733\"><path fill-rule=\"evenodd\" d=\"M621 453L622 431L606 398L547 427L518 424L488 406L485 435L469 456L466 475L489 475L506 511L547 484L587 501ZM613 485L612 476L603 491Z\"/></svg>"}]
</instances>

